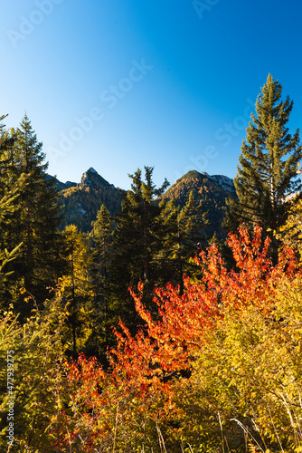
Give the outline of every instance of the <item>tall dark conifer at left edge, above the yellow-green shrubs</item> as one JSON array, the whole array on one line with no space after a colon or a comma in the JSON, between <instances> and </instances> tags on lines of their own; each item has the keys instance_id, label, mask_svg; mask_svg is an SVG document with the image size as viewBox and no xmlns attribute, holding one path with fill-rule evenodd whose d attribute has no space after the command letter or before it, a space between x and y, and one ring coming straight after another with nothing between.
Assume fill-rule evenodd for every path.
<instances>
[{"instance_id":1,"label":"tall dark conifer at left edge, above the yellow-green shrubs","mask_svg":"<svg viewBox=\"0 0 302 453\"><path fill-rule=\"evenodd\" d=\"M14 213L5 216L2 246L11 249L21 241L24 243L21 257L11 265L14 285L23 285L42 302L48 295L46 287L55 284L61 272L61 235L57 230L61 223L59 194L54 179L46 174L48 164L43 163L42 143L37 140L28 117L24 116L18 129L5 131L3 137L8 145L0 156L1 190L14 187L23 174L28 178L19 190ZM24 304L18 308L21 312L28 311Z\"/></svg>"}]
</instances>

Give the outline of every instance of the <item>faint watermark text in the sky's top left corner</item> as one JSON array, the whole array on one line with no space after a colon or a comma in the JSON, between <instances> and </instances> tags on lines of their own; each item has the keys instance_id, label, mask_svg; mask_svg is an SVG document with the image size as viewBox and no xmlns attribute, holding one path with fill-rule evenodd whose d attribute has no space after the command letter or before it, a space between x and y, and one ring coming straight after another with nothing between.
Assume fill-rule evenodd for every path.
<instances>
[{"instance_id":1,"label":"faint watermark text in the sky's top left corner","mask_svg":"<svg viewBox=\"0 0 302 453\"><path fill-rule=\"evenodd\" d=\"M35 30L35 27L42 24L45 17L52 14L55 5L60 5L64 0L36 0L34 5L36 9L33 9L31 14L27 17L24 15L20 16L20 24L18 30L10 28L6 34L13 45L17 47L20 41L24 41L30 34Z\"/></svg>"}]
</instances>

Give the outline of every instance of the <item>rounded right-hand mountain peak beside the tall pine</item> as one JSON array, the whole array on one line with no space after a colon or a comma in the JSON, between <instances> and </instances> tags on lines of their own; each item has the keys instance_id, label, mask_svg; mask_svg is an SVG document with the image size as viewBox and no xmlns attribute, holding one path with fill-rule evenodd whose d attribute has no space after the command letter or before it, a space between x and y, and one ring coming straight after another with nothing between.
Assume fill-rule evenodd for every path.
<instances>
[{"instance_id":1,"label":"rounded right-hand mountain peak beside the tall pine","mask_svg":"<svg viewBox=\"0 0 302 453\"><path fill-rule=\"evenodd\" d=\"M209 211L209 226L205 229L206 234L212 236L216 232L218 236L224 238L222 222L227 212L226 200L236 198L232 179L222 175L210 176L207 173L192 170L177 179L175 184L168 188L159 199L170 200L173 198L175 206L184 207L191 191L193 191L196 205L202 201L202 211Z\"/></svg>"}]
</instances>

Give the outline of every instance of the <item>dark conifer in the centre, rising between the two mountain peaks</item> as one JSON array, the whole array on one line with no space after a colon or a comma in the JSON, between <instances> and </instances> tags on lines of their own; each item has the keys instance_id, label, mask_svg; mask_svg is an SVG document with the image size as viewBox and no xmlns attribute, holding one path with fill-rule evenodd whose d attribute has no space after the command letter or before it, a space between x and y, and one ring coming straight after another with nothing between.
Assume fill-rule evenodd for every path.
<instances>
[{"instance_id":1,"label":"dark conifer in the centre, rising between the two mountain peaks","mask_svg":"<svg viewBox=\"0 0 302 453\"><path fill-rule=\"evenodd\" d=\"M156 282L156 267L152 261L161 246L157 235L161 209L154 199L165 191L169 183L165 179L161 188L156 188L152 174L153 168L145 167L145 181L140 169L129 175L131 190L128 190L116 217L110 274L116 294L116 310L121 318L127 320L127 325L137 322L128 287L136 287L139 281L143 281L147 294L148 288L153 288Z\"/></svg>"}]
</instances>

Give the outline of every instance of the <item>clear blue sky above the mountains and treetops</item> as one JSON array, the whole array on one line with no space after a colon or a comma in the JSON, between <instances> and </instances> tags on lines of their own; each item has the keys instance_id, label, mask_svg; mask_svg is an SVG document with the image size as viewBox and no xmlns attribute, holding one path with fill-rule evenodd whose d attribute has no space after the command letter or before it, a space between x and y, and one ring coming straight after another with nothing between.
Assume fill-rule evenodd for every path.
<instances>
[{"instance_id":1,"label":"clear blue sky above the mountains and treetops","mask_svg":"<svg viewBox=\"0 0 302 453\"><path fill-rule=\"evenodd\" d=\"M27 112L49 172L90 167L129 188L154 166L236 175L250 111L269 72L302 123L302 4L276 0L2 2L0 114Z\"/></svg>"}]
</instances>

